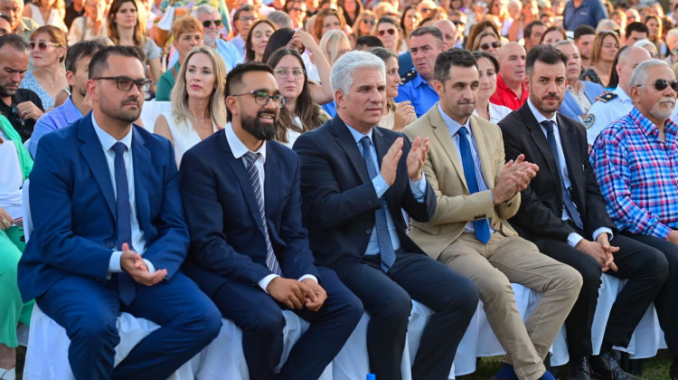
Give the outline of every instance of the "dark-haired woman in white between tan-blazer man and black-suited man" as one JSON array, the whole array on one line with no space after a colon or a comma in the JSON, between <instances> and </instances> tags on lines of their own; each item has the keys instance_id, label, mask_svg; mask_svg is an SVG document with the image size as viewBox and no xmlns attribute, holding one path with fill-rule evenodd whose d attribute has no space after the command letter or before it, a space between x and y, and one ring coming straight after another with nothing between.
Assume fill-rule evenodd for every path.
<instances>
[{"instance_id":1,"label":"dark-haired woman in white between tan-blazer man and black-suited man","mask_svg":"<svg viewBox=\"0 0 678 380\"><path fill-rule=\"evenodd\" d=\"M511 113L508 107L490 103L490 97L496 90L496 73L499 71L499 62L487 52L473 52L478 62L480 83L476 96L476 109L473 114L493 123L498 123Z\"/></svg>"}]
</instances>

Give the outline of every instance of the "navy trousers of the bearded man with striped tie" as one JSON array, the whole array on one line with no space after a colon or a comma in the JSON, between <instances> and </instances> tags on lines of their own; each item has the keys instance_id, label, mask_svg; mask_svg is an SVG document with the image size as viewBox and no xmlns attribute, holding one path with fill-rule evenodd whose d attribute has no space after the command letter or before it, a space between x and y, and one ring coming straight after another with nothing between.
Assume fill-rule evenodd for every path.
<instances>
[{"instance_id":1,"label":"navy trousers of the bearded man with striped tie","mask_svg":"<svg viewBox=\"0 0 678 380\"><path fill-rule=\"evenodd\" d=\"M287 308L259 286L240 280L227 280L213 295L223 317L242 329L242 350L252 380L318 378L363 317L360 299L344 286L336 273L322 267L317 270L327 299L317 312L293 310L311 326L292 347L278 376L275 367L282 356L285 327L282 310Z\"/></svg>"}]
</instances>

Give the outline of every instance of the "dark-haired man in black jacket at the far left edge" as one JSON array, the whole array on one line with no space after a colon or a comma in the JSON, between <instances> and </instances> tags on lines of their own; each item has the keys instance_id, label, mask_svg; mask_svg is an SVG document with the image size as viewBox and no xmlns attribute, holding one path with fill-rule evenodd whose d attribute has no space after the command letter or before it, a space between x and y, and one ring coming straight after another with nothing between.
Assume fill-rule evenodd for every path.
<instances>
[{"instance_id":1,"label":"dark-haired man in black jacket at the far left edge","mask_svg":"<svg viewBox=\"0 0 678 380\"><path fill-rule=\"evenodd\" d=\"M0 37L0 112L23 142L31 138L35 121L44 113L38 94L19 88L27 70L28 48L24 40L16 34Z\"/></svg>"}]
</instances>

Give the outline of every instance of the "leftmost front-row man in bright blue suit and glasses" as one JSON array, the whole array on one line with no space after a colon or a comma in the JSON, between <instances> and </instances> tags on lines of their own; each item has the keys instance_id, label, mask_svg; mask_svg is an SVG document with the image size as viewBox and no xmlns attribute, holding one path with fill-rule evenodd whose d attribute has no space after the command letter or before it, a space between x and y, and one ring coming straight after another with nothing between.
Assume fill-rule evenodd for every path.
<instances>
[{"instance_id":1,"label":"leftmost front-row man in bright blue suit and glasses","mask_svg":"<svg viewBox=\"0 0 678 380\"><path fill-rule=\"evenodd\" d=\"M221 327L214 304L179 272L189 235L174 149L132 125L149 82L136 49L97 52L92 112L42 138L31 174L34 232L19 288L66 329L77 379L165 379ZM160 328L114 368L121 311Z\"/></svg>"}]
</instances>

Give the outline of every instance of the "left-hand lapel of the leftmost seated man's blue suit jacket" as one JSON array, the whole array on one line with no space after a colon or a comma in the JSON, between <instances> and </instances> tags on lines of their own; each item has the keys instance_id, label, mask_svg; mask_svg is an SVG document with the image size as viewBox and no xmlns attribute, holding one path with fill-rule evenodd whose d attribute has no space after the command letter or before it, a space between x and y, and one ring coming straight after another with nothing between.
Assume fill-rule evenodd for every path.
<instances>
[{"instance_id":1,"label":"left-hand lapel of the leftmost seated man's blue suit jacket","mask_svg":"<svg viewBox=\"0 0 678 380\"><path fill-rule=\"evenodd\" d=\"M110 214L115 219L117 208L116 197L113 193L113 183L110 180L106 156L101 148L101 142L99 141L99 138L97 138L96 132L94 132L91 118L90 112L85 115L77 125L77 128L79 128L78 138L82 142L82 145L80 145L80 153L85 158L92 176L94 176L94 179L99 185L101 194L103 194L104 199L106 199L108 210L110 210ZM102 168L106 168L106 170L102 170Z\"/></svg>"}]
</instances>

